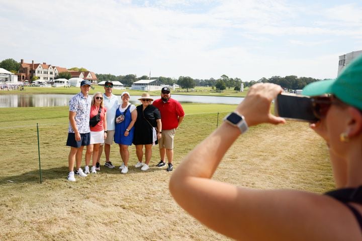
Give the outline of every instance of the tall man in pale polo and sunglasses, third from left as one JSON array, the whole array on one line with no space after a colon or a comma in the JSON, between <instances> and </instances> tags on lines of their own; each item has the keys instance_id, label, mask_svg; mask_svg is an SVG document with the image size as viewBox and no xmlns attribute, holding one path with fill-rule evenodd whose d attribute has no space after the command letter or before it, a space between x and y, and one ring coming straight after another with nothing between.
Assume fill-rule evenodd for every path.
<instances>
[{"instance_id":1,"label":"tall man in pale polo and sunglasses, third from left","mask_svg":"<svg viewBox=\"0 0 362 241\"><path fill-rule=\"evenodd\" d=\"M112 81L106 81L104 88L105 92L103 94L103 103L104 106L107 108L107 139L105 140L104 143L104 149L106 155L105 166L108 168L115 168L115 166L110 161L110 153L115 133L115 119L116 119L116 109L118 107L118 97L112 94L112 89L113 89ZM96 170L101 170L100 159L102 152L103 152L103 145L101 145L99 149Z\"/></svg>"}]
</instances>

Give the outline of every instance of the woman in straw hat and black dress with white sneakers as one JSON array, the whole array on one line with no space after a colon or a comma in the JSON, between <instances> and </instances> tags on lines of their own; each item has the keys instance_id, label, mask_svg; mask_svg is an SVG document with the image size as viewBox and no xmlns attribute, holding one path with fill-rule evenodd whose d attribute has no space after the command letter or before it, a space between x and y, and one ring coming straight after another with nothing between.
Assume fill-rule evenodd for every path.
<instances>
[{"instance_id":1,"label":"woman in straw hat and black dress with white sneakers","mask_svg":"<svg viewBox=\"0 0 362 241\"><path fill-rule=\"evenodd\" d=\"M141 104L137 106L137 120L133 138L133 144L136 146L136 155L138 158L138 163L135 167L141 167L142 171L147 171L152 156L152 145L156 145L157 140L161 138L161 114L159 110L151 104L153 99L149 93L143 93L139 100L141 100ZM145 163L142 162L143 146L145 147Z\"/></svg>"}]
</instances>

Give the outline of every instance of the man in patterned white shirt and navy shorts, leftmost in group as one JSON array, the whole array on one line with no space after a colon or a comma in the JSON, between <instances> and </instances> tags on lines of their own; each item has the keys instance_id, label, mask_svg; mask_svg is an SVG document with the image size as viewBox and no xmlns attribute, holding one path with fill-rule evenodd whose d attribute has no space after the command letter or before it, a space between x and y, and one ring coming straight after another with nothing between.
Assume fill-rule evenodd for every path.
<instances>
[{"instance_id":1,"label":"man in patterned white shirt and navy shorts, leftmost in group","mask_svg":"<svg viewBox=\"0 0 362 241\"><path fill-rule=\"evenodd\" d=\"M89 146L91 129L89 129L89 114L91 112L92 98L88 96L91 81L83 80L80 83L80 93L69 100L69 128L66 145L70 147L68 156L68 181L75 181L74 162L76 162L75 174L80 177L87 175L80 168L84 146Z\"/></svg>"}]
</instances>

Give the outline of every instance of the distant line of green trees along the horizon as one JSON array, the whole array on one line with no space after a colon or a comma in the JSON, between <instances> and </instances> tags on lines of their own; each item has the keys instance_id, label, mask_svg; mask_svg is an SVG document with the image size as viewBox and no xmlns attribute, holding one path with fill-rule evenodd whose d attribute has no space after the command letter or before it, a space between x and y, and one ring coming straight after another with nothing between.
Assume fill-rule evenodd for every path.
<instances>
[{"instance_id":1,"label":"distant line of green trees along the horizon","mask_svg":"<svg viewBox=\"0 0 362 241\"><path fill-rule=\"evenodd\" d=\"M18 73L20 68L20 63L15 61L14 59L6 59L0 62L0 68L4 68L10 72ZM69 70L75 71L87 71L85 68L77 68L73 67ZM96 74L98 78L98 82L111 80L111 81L119 81L124 84L126 87L130 87L134 82L141 79L149 79L149 76L143 75L141 77L137 77L135 74L127 74L127 75L113 75L113 74ZM56 78L71 78L71 74L69 72L61 72ZM234 89L236 91L240 90L241 83L243 83L244 87L250 87L255 83L275 83L279 84L283 88L286 89L302 89L307 84L318 81L319 79L311 78L311 77L297 77L295 75L289 75L285 77L281 76L272 76L270 78L261 78L259 80L251 80L251 81L242 81L240 78L231 78L225 74L221 75L220 78L214 79L194 79L190 76L179 76L178 79L170 78L170 77L151 77L151 79L158 79L160 82L173 85L178 84L180 87L187 89L189 91L190 88L194 88L195 86L209 86L216 90L222 91L226 88Z\"/></svg>"}]
</instances>

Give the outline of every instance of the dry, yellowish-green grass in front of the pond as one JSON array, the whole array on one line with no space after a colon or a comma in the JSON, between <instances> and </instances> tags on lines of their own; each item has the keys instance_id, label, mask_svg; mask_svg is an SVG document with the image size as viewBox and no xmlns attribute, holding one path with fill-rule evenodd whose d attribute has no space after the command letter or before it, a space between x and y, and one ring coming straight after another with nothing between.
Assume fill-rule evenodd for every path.
<instances>
[{"instance_id":1,"label":"dry, yellowish-green grass in front of the pond","mask_svg":"<svg viewBox=\"0 0 362 241\"><path fill-rule=\"evenodd\" d=\"M175 137L175 169L235 108L183 106L187 115ZM2 108L0 123L0 240L228 240L173 201L168 192L172 173L154 167L159 161L157 146L146 172L134 168L137 158L131 146L129 173L120 174L121 158L114 144L111 161L117 169L102 165L99 173L70 183L66 106ZM334 187L325 144L307 124L297 122L250 128L227 152L214 179L258 189L324 192Z\"/></svg>"}]
</instances>

